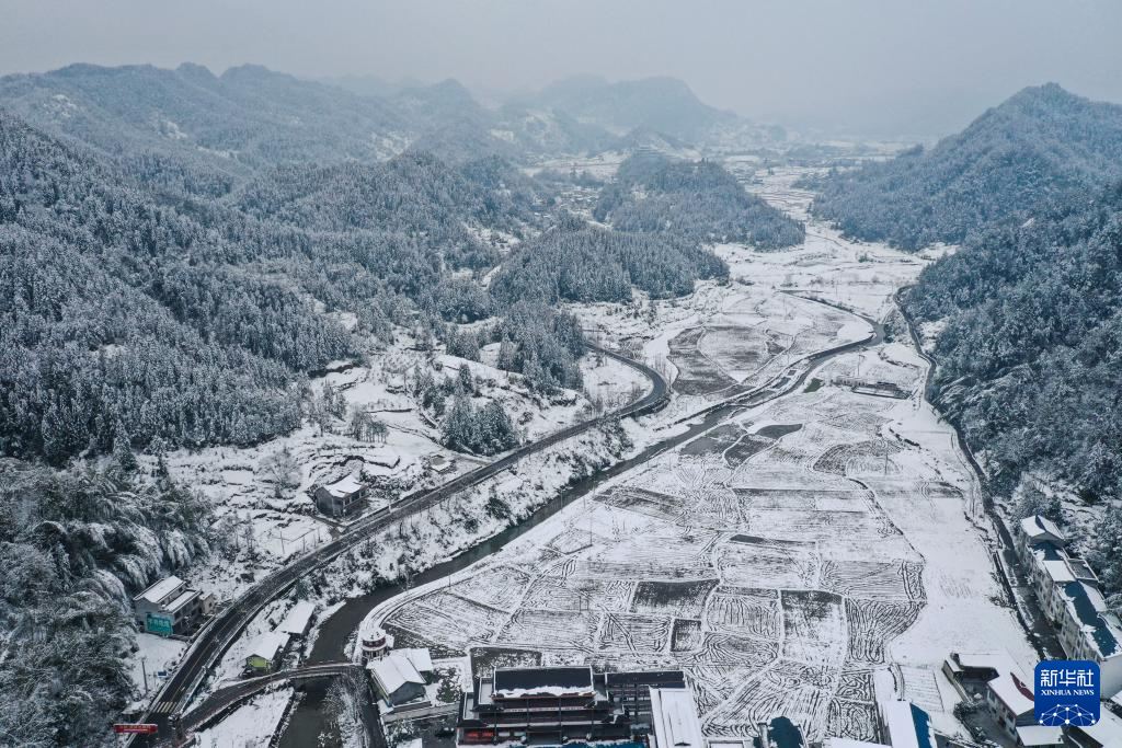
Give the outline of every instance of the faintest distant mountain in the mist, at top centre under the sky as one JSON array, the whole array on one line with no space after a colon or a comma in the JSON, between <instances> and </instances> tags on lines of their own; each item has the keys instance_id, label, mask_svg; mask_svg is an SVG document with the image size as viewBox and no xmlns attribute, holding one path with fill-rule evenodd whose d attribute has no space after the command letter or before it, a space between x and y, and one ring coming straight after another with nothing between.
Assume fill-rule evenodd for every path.
<instances>
[{"instance_id":1,"label":"faintest distant mountain in the mist, at top centre under the sky","mask_svg":"<svg viewBox=\"0 0 1122 748\"><path fill-rule=\"evenodd\" d=\"M608 83L580 75L514 101L526 108L563 111L617 135L642 127L684 140L697 140L707 129L737 119L702 103L686 83L671 77Z\"/></svg>"}]
</instances>

